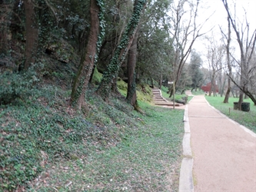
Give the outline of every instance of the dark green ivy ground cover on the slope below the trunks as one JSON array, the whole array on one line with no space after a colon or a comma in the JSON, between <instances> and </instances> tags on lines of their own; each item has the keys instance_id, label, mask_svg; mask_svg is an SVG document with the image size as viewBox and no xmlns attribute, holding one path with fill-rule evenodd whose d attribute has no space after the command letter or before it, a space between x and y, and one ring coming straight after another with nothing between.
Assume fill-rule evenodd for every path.
<instances>
[{"instance_id":1,"label":"dark green ivy ground cover on the slope below the trunks","mask_svg":"<svg viewBox=\"0 0 256 192\"><path fill-rule=\"evenodd\" d=\"M109 110L102 102L98 106L103 105L105 111L97 111L92 124L84 114L65 111L68 102L62 89L50 86L42 88L40 93L28 101L1 107L0 183L6 190L28 184L48 161L76 159L88 153L87 145L101 148L118 141L110 122L117 123L115 118L120 111ZM101 113L112 118L108 124L98 118Z\"/></svg>"}]
</instances>

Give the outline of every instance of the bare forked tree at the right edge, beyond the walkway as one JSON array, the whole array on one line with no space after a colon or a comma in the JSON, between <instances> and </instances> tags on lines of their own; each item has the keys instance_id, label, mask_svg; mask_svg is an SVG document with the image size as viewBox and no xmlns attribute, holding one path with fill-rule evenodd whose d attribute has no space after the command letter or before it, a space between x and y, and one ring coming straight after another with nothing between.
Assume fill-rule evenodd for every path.
<instances>
[{"instance_id":1,"label":"bare forked tree at the right edge, beyond the walkway","mask_svg":"<svg viewBox=\"0 0 256 192\"><path fill-rule=\"evenodd\" d=\"M234 33L237 37L237 42L240 48L240 84L238 82L234 81L234 79L231 78L231 81L234 82L240 88L240 94L239 94L239 101L238 101L238 108L241 110L241 103L244 99L244 94L248 95L249 98L251 98L252 101L254 101L254 104L256 104L256 98L249 90L249 81L251 77L251 69L250 68L250 62L252 55L254 53L255 43L256 43L256 29L252 32L252 35L250 34L250 25L248 23L246 12L245 13L245 25L244 23L238 22L240 21L235 15L231 15L230 8L228 7L227 0L222 0L224 8L226 9L228 13L228 19L231 22L232 28L234 30ZM251 36L250 36L251 35Z\"/></svg>"}]
</instances>

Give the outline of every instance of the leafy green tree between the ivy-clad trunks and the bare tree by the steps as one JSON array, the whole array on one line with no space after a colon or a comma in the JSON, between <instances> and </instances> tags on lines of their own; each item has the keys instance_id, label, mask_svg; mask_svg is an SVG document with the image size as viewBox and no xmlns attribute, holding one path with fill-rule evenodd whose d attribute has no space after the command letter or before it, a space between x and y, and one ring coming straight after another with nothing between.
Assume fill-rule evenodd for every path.
<instances>
[{"instance_id":1,"label":"leafy green tree between the ivy-clad trunks and the bare tree by the steps","mask_svg":"<svg viewBox=\"0 0 256 192\"><path fill-rule=\"evenodd\" d=\"M171 71L169 10L171 1L148 0L138 38L137 81L167 78Z\"/></svg>"}]
</instances>

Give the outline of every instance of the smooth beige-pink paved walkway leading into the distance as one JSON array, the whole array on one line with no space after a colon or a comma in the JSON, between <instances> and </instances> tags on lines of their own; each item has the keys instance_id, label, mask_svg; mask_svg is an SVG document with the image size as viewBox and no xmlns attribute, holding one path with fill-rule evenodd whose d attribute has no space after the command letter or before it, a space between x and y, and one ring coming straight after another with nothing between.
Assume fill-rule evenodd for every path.
<instances>
[{"instance_id":1,"label":"smooth beige-pink paved walkway leading into the distance","mask_svg":"<svg viewBox=\"0 0 256 192\"><path fill-rule=\"evenodd\" d=\"M188 121L194 191L256 192L256 134L214 110L203 95L189 102Z\"/></svg>"}]
</instances>

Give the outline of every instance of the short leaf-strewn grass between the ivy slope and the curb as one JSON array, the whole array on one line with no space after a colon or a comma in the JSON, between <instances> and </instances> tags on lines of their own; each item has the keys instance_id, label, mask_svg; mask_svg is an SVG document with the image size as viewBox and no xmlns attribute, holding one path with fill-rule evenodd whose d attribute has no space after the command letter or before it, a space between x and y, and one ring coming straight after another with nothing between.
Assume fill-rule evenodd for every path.
<instances>
[{"instance_id":1,"label":"short leaf-strewn grass between the ivy slope and the curb","mask_svg":"<svg viewBox=\"0 0 256 192\"><path fill-rule=\"evenodd\" d=\"M183 112L140 106L145 116L118 125L120 142L48 164L30 191L178 191Z\"/></svg>"}]
</instances>

